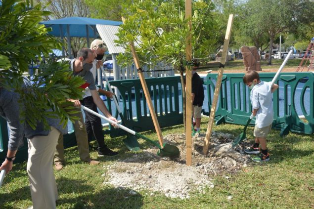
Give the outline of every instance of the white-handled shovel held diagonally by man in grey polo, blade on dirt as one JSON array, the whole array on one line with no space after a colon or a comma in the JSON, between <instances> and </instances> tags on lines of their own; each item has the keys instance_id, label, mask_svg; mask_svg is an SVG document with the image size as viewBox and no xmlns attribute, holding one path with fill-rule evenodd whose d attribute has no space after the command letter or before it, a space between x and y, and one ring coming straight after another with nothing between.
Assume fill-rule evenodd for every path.
<instances>
[{"instance_id":1,"label":"white-handled shovel held diagonally by man in grey polo, blade on dirt","mask_svg":"<svg viewBox=\"0 0 314 209\"><path fill-rule=\"evenodd\" d=\"M134 130L131 130L130 128L127 128L126 126L123 126L123 125L120 125L112 120L110 120L109 118L106 118L105 116L103 115L100 115L99 113L96 113L92 110L90 110L89 108L87 107L84 107L83 105L81 106L83 110L85 111L88 111L90 112L91 114L94 114L95 116L98 116L104 120L106 120L107 122L109 122L110 124L114 124L114 125L117 125L119 128L127 131L128 133L131 133L139 138L142 138L144 139L145 141L148 141L152 144L154 144L156 147L159 148L158 152L157 152L157 155L158 156L162 156L162 157L171 157L171 158L177 158L179 157L180 155L180 151L179 151L179 148L176 147L175 145L171 145L171 144L167 144L167 143L163 143L163 148L161 148L160 144L156 143L155 141L152 141L150 140L149 138L139 134L139 133L136 133Z\"/></svg>"}]
</instances>

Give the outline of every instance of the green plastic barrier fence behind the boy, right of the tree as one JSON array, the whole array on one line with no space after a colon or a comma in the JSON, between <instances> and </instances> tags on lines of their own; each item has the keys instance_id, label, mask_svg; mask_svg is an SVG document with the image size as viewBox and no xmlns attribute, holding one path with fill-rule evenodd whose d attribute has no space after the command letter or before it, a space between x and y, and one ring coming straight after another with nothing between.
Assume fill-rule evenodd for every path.
<instances>
[{"instance_id":1,"label":"green plastic barrier fence behind the boy, right of the tree","mask_svg":"<svg viewBox=\"0 0 314 209\"><path fill-rule=\"evenodd\" d=\"M275 73L260 73L262 81L270 82ZM245 125L251 115L250 90L243 84L244 74L226 74L219 95L219 104L215 114L216 124L230 123ZM276 84L279 90L273 93L274 120L272 127L280 129L280 135L289 131L312 134L314 132L314 74L282 73ZM206 81L209 110L217 74L208 74ZM297 108L298 107L298 108ZM299 109L299 114L297 113ZM300 113L301 112L301 113ZM300 119L303 115L305 119ZM250 125L254 125L252 120Z\"/></svg>"}]
</instances>

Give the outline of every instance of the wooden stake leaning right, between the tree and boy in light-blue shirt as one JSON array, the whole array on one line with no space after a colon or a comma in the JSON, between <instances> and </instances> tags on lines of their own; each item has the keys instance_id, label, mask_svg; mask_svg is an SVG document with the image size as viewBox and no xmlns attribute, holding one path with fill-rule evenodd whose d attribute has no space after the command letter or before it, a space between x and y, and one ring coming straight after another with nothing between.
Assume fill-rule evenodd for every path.
<instances>
[{"instance_id":1,"label":"wooden stake leaning right, between the tree and boy in light-blue shirt","mask_svg":"<svg viewBox=\"0 0 314 209\"><path fill-rule=\"evenodd\" d=\"M220 63L222 64L223 67L219 68L218 78L216 81L214 99L213 99L213 103L212 103L211 113L209 116L209 121L208 121L207 130L206 130L206 136L205 136L205 142L204 142L204 147L203 147L203 154L204 155L207 154L208 146L209 146L209 140L210 140L210 137L212 134L212 128L213 128L213 124L214 124L216 106L217 106L220 86L222 84L223 73L224 73L224 63L225 63L225 59L226 59L227 54L228 54L228 46L229 46L229 41L230 41L230 36L231 36L232 22L233 22L233 14L230 14L229 19L228 19L227 30L225 32L225 37L224 37L224 48L223 48L223 53L222 53L222 59L220 61Z\"/></svg>"}]
</instances>

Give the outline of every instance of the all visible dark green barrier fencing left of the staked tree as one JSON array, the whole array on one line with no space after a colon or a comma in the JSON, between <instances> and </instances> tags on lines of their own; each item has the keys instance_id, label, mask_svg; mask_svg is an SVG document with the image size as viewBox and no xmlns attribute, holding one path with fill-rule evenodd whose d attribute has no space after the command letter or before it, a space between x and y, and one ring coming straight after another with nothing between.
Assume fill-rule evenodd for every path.
<instances>
[{"instance_id":1,"label":"all visible dark green barrier fencing left of the staked tree","mask_svg":"<svg viewBox=\"0 0 314 209\"><path fill-rule=\"evenodd\" d=\"M154 109L157 113L157 118L161 127L172 125L179 125L183 123L182 113L179 111L179 104L182 104L181 97L181 84L179 77L165 77L165 78L152 78L146 79L148 89L151 89L151 98L153 100ZM154 125L149 115L149 109L146 105L146 99L142 91L140 81L135 80L121 80L111 81L112 86L118 87L122 96L123 115L127 119L128 127L134 129L136 132L152 130ZM133 100L133 102L132 102ZM179 101L181 100L181 101ZM111 106L113 105L113 106ZM135 105L135 108L133 106ZM107 100L108 110L114 109L114 102ZM182 108L182 107L180 107ZM133 118L133 109L136 111L136 118ZM115 114L115 117L118 113ZM0 153L0 161L5 159L8 143L8 131L6 121L0 118L0 141L3 141L4 152ZM121 129L109 128L104 131L110 136L125 135L126 132ZM64 148L77 145L74 132L63 135ZM24 146L19 148L16 154L15 163L26 161L28 158L28 145L25 139Z\"/></svg>"}]
</instances>

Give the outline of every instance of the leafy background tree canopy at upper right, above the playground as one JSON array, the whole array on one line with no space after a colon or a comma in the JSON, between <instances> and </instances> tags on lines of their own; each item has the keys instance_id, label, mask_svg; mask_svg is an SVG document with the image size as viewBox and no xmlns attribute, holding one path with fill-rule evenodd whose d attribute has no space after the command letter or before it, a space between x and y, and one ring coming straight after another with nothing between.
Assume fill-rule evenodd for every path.
<instances>
[{"instance_id":1,"label":"leafy background tree canopy at upper right, above the playground","mask_svg":"<svg viewBox=\"0 0 314 209\"><path fill-rule=\"evenodd\" d=\"M280 34L289 33L295 40L303 40L309 39L305 34L313 32L313 27L309 27L314 19L311 0L248 0L239 3L235 11L237 46L252 44L263 51Z\"/></svg>"}]
</instances>

